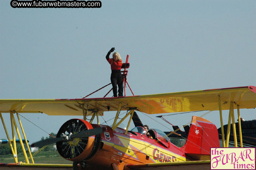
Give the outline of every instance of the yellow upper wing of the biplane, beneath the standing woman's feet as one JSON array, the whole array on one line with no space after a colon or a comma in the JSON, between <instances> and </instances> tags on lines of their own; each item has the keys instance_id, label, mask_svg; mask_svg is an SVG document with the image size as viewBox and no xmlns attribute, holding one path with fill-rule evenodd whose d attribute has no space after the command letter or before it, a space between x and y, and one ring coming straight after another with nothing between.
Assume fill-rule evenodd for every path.
<instances>
[{"instance_id":1,"label":"yellow upper wing of the biplane, beneath the standing woman's feet","mask_svg":"<svg viewBox=\"0 0 256 170\"><path fill-rule=\"evenodd\" d=\"M255 108L256 87L236 87L215 90L186 91L177 93L127 96L120 98L93 99L0 99L0 112L9 113L45 113L48 115L82 115L82 107L87 109L87 115L93 109L103 111L137 108L147 113L172 113L198 110L219 110L218 95L222 110L229 109L226 102L234 102L235 107Z\"/></svg>"}]
</instances>

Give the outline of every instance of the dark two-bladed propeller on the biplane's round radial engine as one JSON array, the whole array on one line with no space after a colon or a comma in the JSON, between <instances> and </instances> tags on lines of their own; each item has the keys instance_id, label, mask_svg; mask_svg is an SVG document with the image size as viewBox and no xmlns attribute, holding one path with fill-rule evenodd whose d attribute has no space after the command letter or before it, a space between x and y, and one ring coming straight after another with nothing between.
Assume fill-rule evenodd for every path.
<instances>
[{"instance_id":1,"label":"dark two-bladed propeller on the biplane's round radial engine","mask_svg":"<svg viewBox=\"0 0 256 170\"><path fill-rule=\"evenodd\" d=\"M74 138L87 138L89 136L93 136L93 135L100 134L100 133L102 133L102 128L93 128L93 129L89 129L89 130L84 130L84 131L81 131L76 134L61 133L60 138L51 138L51 139L45 139L43 141L38 141L38 142L33 143L31 145L31 147L41 148L45 145L50 145L50 144L61 142L61 141L68 142L68 141L72 141Z\"/></svg>"}]
</instances>

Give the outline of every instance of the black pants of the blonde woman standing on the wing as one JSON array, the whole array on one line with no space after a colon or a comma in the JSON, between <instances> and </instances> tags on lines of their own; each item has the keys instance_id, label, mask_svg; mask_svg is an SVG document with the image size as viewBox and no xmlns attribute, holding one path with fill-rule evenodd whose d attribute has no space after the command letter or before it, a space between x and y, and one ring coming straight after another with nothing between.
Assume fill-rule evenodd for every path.
<instances>
[{"instance_id":1,"label":"black pants of the blonde woman standing on the wing","mask_svg":"<svg viewBox=\"0 0 256 170\"><path fill-rule=\"evenodd\" d=\"M123 96L123 76L120 70L112 70L110 77L114 97L117 97L117 85L118 85L118 96Z\"/></svg>"}]
</instances>

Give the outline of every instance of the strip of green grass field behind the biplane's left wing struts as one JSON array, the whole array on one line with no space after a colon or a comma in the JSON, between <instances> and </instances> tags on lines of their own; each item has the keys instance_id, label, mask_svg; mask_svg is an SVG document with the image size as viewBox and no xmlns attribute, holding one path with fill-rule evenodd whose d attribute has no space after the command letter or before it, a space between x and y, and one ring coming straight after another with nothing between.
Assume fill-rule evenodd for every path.
<instances>
[{"instance_id":1,"label":"strip of green grass field behind the biplane's left wing struts","mask_svg":"<svg viewBox=\"0 0 256 170\"><path fill-rule=\"evenodd\" d=\"M27 153L28 157L29 154ZM33 153L32 153L33 155ZM41 151L37 155L33 156L34 163L36 164L72 164L73 162L62 158L57 151ZM26 162L25 157L22 154L18 155L19 162ZM11 154L0 155L0 163L14 163L14 158ZM29 163L32 163L29 159Z\"/></svg>"}]
</instances>

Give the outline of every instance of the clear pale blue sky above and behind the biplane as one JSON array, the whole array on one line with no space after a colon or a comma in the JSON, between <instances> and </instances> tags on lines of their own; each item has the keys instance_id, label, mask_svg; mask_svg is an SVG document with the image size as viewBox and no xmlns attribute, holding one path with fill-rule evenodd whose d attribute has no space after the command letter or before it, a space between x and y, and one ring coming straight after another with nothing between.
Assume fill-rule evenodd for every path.
<instances>
[{"instance_id":1,"label":"clear pale blue sky above and behind the biplane","mask_svg":"<svg viewBox=\"0 0 256 170\"><path fill-rule=\"evenodd\" d=\"M112 47L123 60L130 55L127 80L135 95L256 85L254 0L101 2L101 8L33 9L0 1L0 98L84 97L110 83L105 56ZM245 120L256 118L255 110L240 112ZM166 119L182 126L202 114ZM153 120L169 126L156 115L140 115L149 128L168 130ZM9 114L3 116L9 124ZM74 118L23 116L49 133ZM227 124L228 112L223 116ZM218 112L206 118L220 127ZM47 136L21 119L31 142ZM0 130L0 139L6 138L2 125Z\"/></svg>"}]
</instances>

